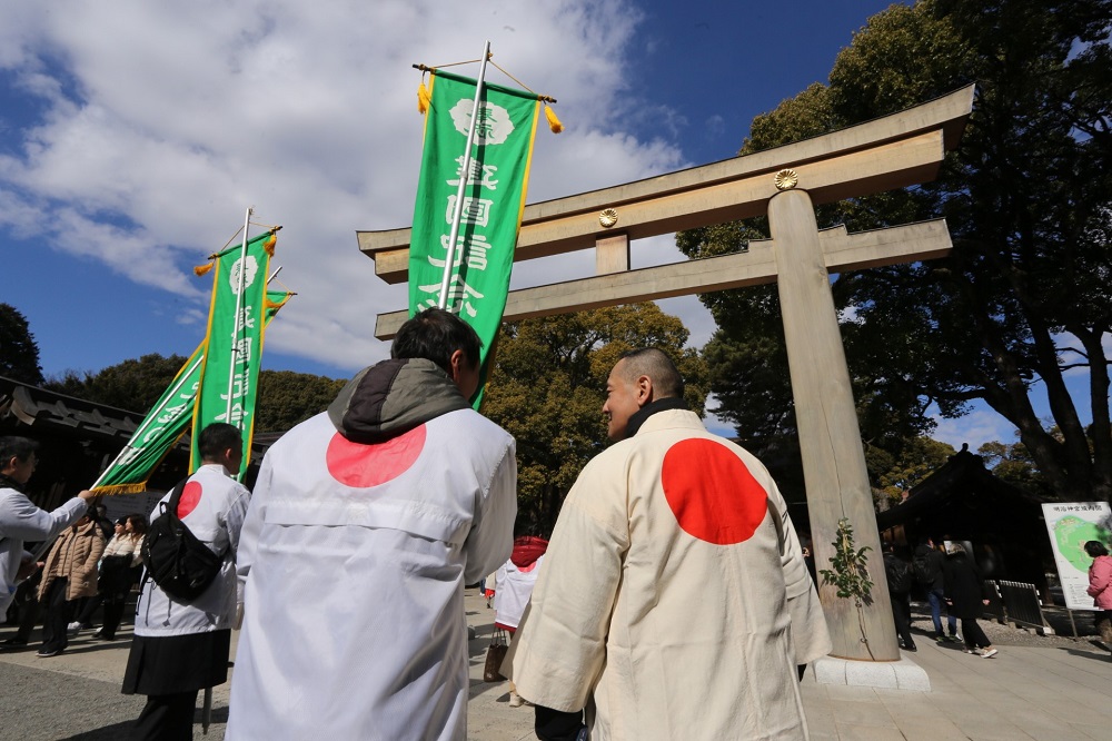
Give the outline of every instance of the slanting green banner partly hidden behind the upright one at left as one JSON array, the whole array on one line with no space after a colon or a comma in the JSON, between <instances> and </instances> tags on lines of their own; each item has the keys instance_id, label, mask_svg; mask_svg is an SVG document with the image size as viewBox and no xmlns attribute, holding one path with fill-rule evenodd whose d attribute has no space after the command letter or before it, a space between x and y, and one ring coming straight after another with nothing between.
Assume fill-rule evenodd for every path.
<instances>
[{"instance_id":1,"label":"slanting green banner partly hidden behind the upright one at left","mask_svg":"<svg viewBox=\"0 0 1112 741\"><path fill-rule=\"evenodd\" d=\"M290 294L285 290L267 292L267 326L289 297ZM136 494L147 490L150 474L192 422L203 364L205 343L201 343L136 427L119 456L100 474L92 491L98 494Z\"/></svg>"}]
</instances>

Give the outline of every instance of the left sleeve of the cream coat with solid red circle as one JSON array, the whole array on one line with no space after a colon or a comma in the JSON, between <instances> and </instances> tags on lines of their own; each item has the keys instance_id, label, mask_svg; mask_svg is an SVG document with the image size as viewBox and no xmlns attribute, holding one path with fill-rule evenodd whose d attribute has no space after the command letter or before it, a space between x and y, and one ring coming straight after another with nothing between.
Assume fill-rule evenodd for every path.
<instances>
[{"instance_id":1,"label":"left sleeve of the cream coat with solid red circle","mask_svg":"<svg viewBox=\"0 0 1112 741\"><path fill-rule=\"evenodd\" d=\"M522 696L564 712L587 704L603 670L629 547L624 477L605 472L600 463L595 458L587 464L560 508L533 597L503 664Z\"/></svg>"}]
</instances>

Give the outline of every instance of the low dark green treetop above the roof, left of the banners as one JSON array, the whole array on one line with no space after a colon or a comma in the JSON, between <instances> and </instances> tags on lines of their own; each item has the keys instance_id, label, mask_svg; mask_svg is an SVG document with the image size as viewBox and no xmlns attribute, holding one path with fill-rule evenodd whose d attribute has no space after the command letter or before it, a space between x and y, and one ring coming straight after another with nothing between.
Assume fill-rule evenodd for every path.
<instances>
[{"instance_id":1,"label":"low dark green treetop above the roof, left of the banners","mask_svg":"<svg viewBox=\"0 0 1112 741\"><path fill-rule=\"evenodd\" d=\"M50 391L107 404L128 412L146 412L166 392L186 360L180 355L151 353L96 373L67 370L44 385Z\"/></svg>"}]
</instances>

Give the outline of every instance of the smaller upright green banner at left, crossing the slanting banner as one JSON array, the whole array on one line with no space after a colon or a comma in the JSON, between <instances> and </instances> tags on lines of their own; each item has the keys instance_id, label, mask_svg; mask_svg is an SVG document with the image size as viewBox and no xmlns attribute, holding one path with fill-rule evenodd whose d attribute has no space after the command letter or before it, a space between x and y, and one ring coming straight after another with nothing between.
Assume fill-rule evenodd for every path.
<instances>
[{"instance_id":1,"label":"smaller upright green banner at left, crossing the slanting banner","mask_svg":"<svg viewBox=\"0 0 1112 741\"><path fill-rule=\"evenodd\" d=\"M214 422L227 422L244 432L240 475L250 463L256 385L262 358L265 322L261 319L266 312L267 270L274 243L275 234L265 231L248 240L246 257L241 257L239 245L214 256L212 305L193 409L190 472L201 465L198 435ZM240 284L242 297L239 296Z\"/></svg>"}]
</instances>

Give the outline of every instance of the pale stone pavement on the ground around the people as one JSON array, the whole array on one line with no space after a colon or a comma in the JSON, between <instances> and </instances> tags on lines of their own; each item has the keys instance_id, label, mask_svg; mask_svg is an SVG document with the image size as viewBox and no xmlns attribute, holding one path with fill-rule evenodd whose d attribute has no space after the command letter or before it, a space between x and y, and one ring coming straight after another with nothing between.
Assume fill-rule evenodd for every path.
<instances>
[{"instance_id":1,"label":"pale stone pavement on the ground around the people","mask_svg":"<svg viewBox=\"0 0 1112 741\"><path fill-rule=\"evenodd\" d=\"M534 738L533 711L508 705L506 683L481 681L494 611L474 590L465 607L478 634L469 645L468 738ZM14 628L0 628L0 639L13 634ZM120 635L130 638L130 629ZM922 633L916 639L919 652L906 655L926 670L930 692L820 685L808 670L803 698L812 739L1112 741L1112 659L1089 640L1059 639L1053 648L997 643L997 656L981 659L962 653L960 644L937 645ZM33 642L22 651L0 652L0 739L126 739L143 703L119 693L129 643L98 643L86 631L51 659L37 659ZM214 692L208 735L201 735L198 714L195 738L221 741L227 717L225 684Z\"/></svg>"}]
</instances>

